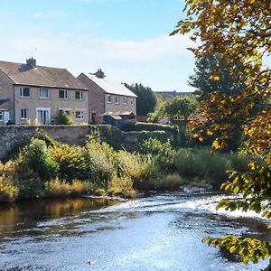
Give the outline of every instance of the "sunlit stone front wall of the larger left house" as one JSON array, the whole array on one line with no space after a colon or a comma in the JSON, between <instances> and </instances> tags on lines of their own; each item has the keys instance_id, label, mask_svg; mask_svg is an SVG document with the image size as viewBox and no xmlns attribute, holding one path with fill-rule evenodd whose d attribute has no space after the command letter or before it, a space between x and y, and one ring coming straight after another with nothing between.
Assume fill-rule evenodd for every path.
<instances>
[{"instance_id":1,"label":"sunlit stone front wall of the larger left house","mask_svg":"<svg viewBox=\"0 0 271 271\"><path fill-rule=\"evenodd\" d=\"M20 87L14 88L15 93L15 124L23 125L26 120L21 119L21 109L28 108L29 118L33 121L37 117L37 107L51 108L51 119L53 119L60 109L70 110L73 124L89 123L88 114L88 91L83 91L83 100L75 99L76 90L68 90L68 99L59 99L59 89L49 89L49 98L40 98L40 88L31 87L31 98L20 97ZM83 110L84 118L76 119L75 111Z\"/></svg>"}]
</instances>

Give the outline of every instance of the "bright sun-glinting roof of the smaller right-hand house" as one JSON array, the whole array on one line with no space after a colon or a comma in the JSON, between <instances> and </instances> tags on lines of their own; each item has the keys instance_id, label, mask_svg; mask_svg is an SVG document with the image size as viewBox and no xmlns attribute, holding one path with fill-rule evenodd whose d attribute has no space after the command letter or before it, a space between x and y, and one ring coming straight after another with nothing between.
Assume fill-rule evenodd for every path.
<instances>
[{"instance_id":1,"label":"bright sun-glinting roof of the smaller right-hand house","mask_svg":"<svg viewBox=\"0 0 271 271\"><path fill-rule=\"evenodd\" d=\"M86 75L91 79L100 89L103 89L107 94L121 95L137 98L134 92L130 89L127 89L125 85L118 83L114 80L107 78L98 78L95 75Z\"/></svg>"}]
</instances>

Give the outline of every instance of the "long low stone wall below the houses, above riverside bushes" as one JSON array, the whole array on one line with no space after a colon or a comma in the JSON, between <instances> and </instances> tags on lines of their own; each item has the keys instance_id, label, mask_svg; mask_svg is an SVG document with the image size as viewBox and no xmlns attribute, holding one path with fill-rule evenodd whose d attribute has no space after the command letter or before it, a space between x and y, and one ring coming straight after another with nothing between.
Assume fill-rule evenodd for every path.
<instances>
[{"instance_id":1,"label":"long low stone wall below the houses, above riverside bushes","mask_svg":"<svg viewBox=\"0 0 271 271\"><path fill-rule=\"evenodd\" d=\"M123 132L114 126L0 126L0 159L15 148L22 147L31 137L38 137L45 133L51 138L69 145L84 145L89 132L99 131L101 138L117 149L125 148L134 152L143 140L150 137L173 140L171 131L139 131Z\"/></svg>"}]
</instances>

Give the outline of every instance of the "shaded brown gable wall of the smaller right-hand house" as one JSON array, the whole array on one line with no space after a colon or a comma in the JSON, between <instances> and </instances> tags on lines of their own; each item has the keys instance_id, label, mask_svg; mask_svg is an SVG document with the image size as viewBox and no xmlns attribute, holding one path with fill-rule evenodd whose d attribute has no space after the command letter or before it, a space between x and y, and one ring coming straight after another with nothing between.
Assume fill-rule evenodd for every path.
<instances>
[{"instance_id":1,"label":"shaded brown gable wall of the smaller right-hand house","mask_svg":"<svg viewBox=\"0 0 271 271\"><path fill-rule=\"evenodd\" d=\"M97 116L102 116L105 113L105 92L84 74L80 74L78 79L89 89L89 122L91 122L93 121L91 117L93 113Z\"/></svg>"}]
</instances>

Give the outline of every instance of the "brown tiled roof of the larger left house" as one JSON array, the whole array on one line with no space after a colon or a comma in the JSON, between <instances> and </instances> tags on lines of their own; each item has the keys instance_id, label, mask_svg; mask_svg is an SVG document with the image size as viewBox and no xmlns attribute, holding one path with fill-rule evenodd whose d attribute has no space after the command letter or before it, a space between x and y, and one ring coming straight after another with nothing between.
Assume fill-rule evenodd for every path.
<instances>
[{"instance_id":1,"label":"brown tiled roof of the larger left house","mask_svg":"<svg viewBox=\"0 0 271 271\"><path fill-rule=\"evenodd\" d=\"M88 90L66 69L44 66L33 68L27 64L0 61L0 70L5 72L15 85Z\"/></svg>"}]
</instances>

